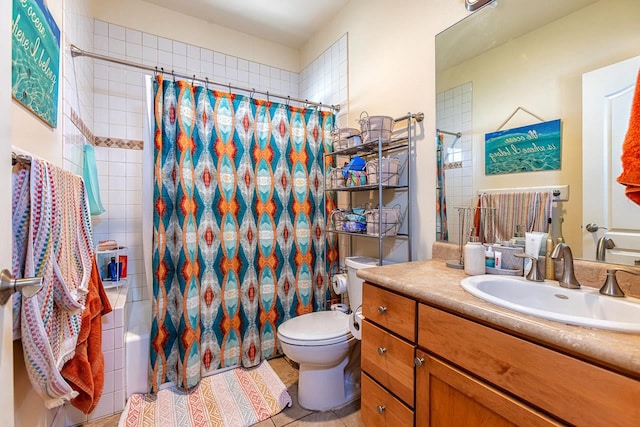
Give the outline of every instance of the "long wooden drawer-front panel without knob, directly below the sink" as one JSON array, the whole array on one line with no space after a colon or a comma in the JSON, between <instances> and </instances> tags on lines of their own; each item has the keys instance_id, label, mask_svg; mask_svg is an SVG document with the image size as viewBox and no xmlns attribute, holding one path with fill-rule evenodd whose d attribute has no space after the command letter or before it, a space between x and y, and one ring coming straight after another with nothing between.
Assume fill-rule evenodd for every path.
<instances>
[{"instance_id":1,"label":"long wooden drawer-front panel without knob, directly below the sink","mask_svg":"<svg viewBox=\"0 0 640 427\"><path fill-rule=\"evenodd\" d=\"M640 381L420 304L418 345L573 425L640 425Z\"/></svg>"}]
</instances>

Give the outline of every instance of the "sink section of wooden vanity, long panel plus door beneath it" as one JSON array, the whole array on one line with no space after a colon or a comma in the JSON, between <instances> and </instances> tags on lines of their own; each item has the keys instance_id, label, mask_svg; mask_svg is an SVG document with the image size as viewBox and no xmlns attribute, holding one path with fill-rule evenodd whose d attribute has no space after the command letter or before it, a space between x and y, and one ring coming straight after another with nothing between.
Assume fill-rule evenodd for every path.
<instances>
[{"instance_id":1,"label":"sink section of wooden vanity, long panel plus door beneath it","mask_svg":"<svg viewBox=\"0 0 640 427\"><path fill-rule=\"evenodd\" d=\"M417 425L640 426L639 381L425 304L418 313Z\"/></svg>"}]
</instances>

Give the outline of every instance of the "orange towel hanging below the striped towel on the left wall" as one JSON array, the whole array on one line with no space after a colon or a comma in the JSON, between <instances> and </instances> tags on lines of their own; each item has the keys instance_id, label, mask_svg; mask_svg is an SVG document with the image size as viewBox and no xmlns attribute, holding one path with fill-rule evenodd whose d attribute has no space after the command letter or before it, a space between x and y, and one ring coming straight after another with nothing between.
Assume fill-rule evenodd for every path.
<instances>
[{"instance_id":1,"label":"orange towel hanging below the striped towel on the left wall","mask_svg":"<svg viewBox=\"0 0 640 427\"><path fill-rule=\"evenodd\" d=\"M104 292L94 256L76 352L62 368L63 378L79 393L71 404L85 414L95 409L104 388L101 316L110 311L111 304Z\"/></svg>"}]
</instances>

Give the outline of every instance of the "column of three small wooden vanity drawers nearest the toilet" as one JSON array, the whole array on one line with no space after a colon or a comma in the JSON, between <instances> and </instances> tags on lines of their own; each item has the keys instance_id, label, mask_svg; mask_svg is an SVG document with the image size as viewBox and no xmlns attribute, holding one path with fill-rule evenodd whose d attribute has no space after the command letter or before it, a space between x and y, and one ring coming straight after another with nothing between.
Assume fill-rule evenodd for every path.
<instances>
[{"instance_id":1,"label":"column of three small wooden vanity drawers nearest the toilet","mask_svg":"<svg viewBox=\"0 0 640 427\"><path fill-rule=\"evenodd\" d=\"M417 302L368 283L362 301L362 422L411 426Z\"/></svg>"}]
</instances>

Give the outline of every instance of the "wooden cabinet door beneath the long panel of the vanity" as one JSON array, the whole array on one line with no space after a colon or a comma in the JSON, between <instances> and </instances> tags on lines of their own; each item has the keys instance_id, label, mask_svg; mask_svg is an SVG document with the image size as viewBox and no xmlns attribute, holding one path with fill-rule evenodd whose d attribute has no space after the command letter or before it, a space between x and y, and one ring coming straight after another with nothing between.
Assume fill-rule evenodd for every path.
<instances>
[{"instance_id":1,"label":"wooden cabinet door beneath the long panel of the vanity","mask_svg":"<svg viewBox=\"0 0 640 427\"><path fill-rule=\"evenodd\" d=\"M555 421L418 350L416 426L557 426Z\"/></svg>"}]
</instances>

